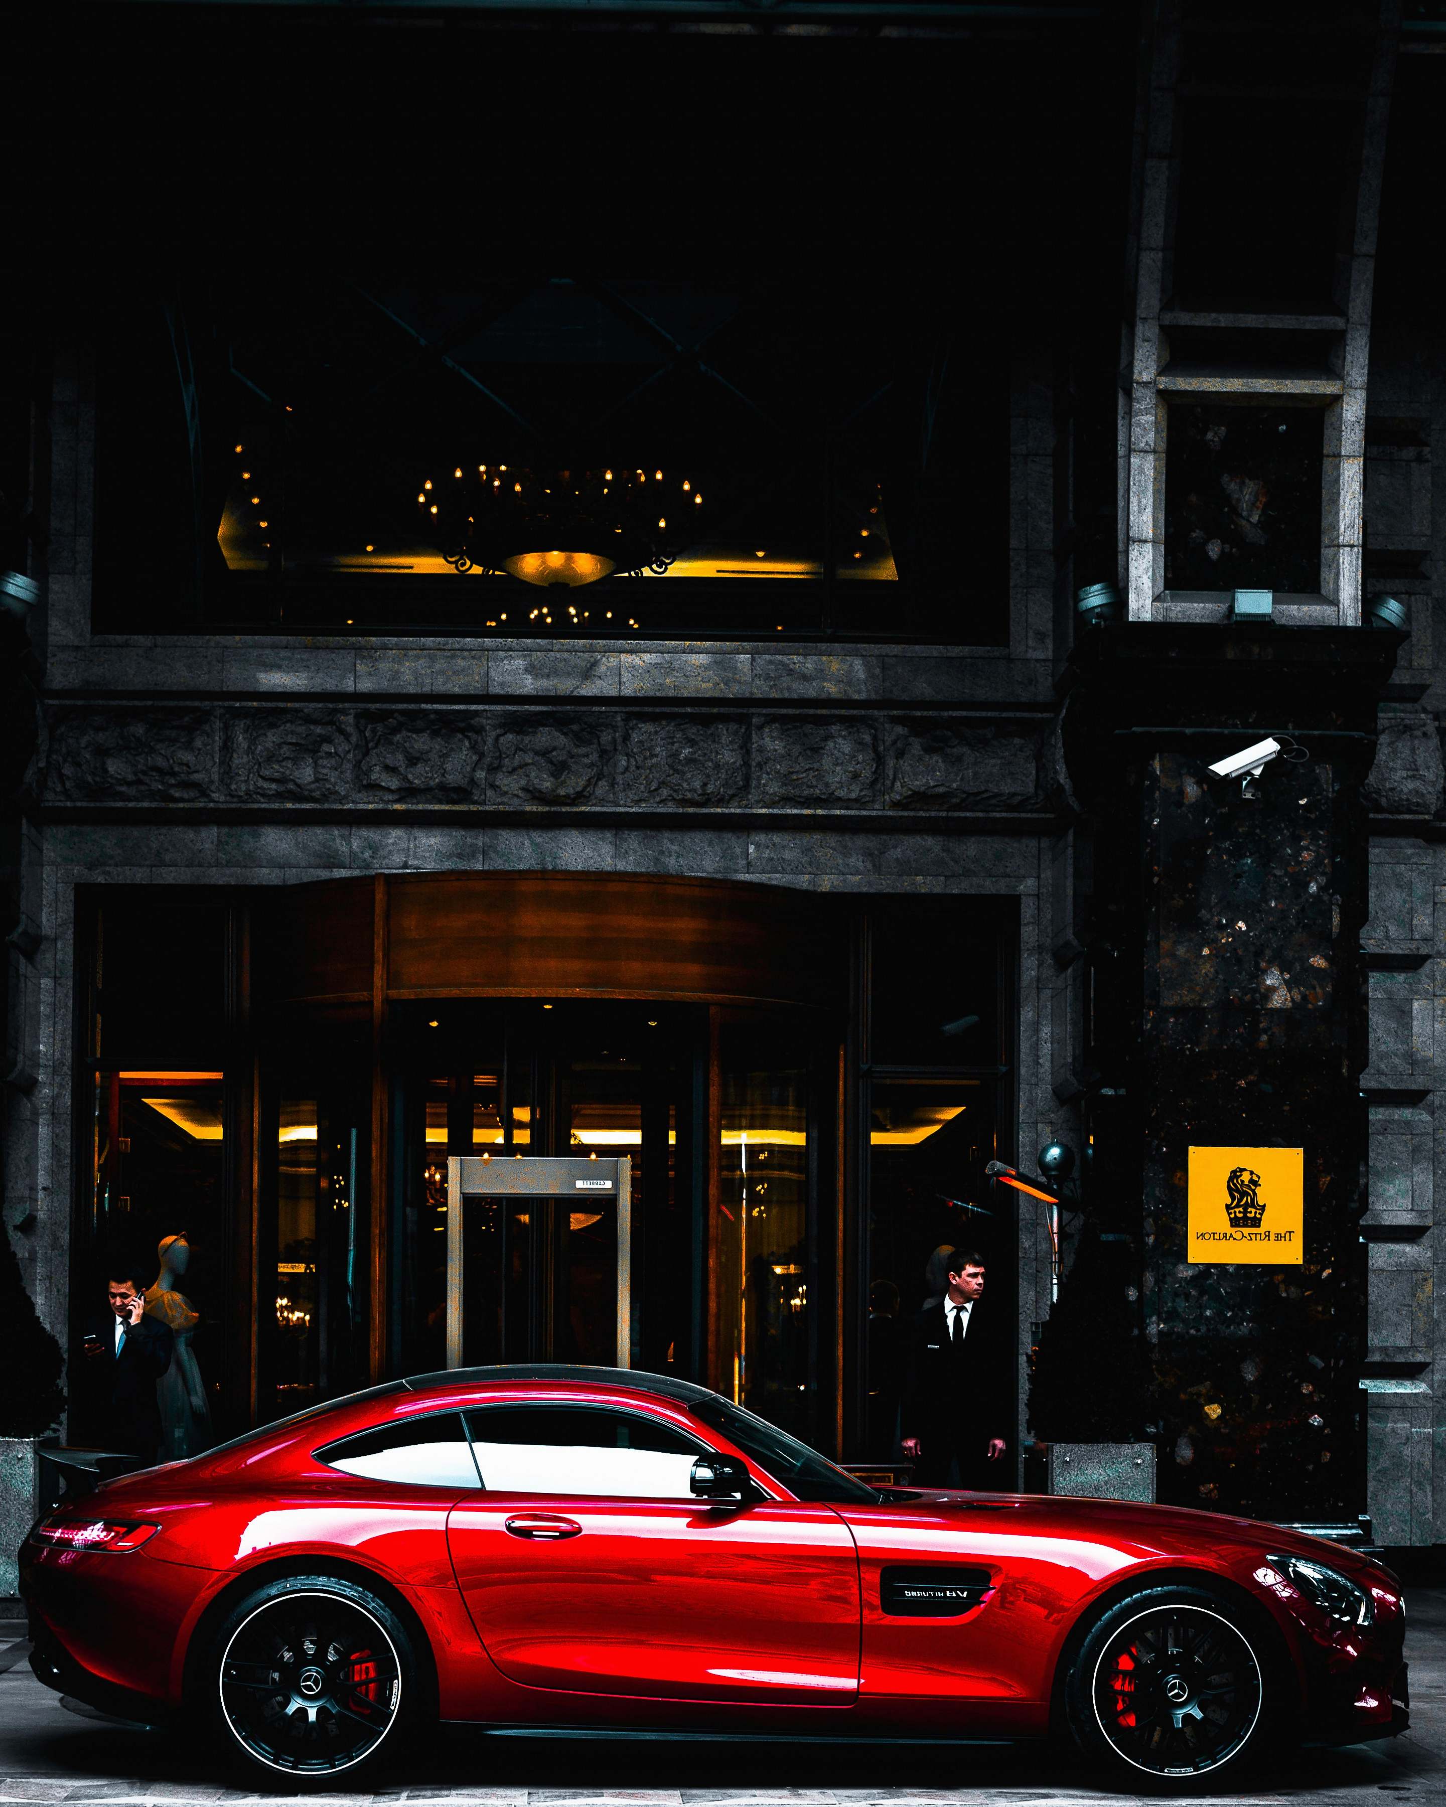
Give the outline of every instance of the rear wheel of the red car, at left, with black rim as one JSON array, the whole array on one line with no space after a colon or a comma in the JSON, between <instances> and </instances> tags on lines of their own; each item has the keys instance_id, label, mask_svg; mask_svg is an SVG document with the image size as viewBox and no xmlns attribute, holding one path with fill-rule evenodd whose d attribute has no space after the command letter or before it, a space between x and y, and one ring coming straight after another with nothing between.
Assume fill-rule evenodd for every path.
<instances>
[{"instance_id":1,"label":"rear wheel of the red car, at left, with black rim","mask_svg":"<svg viewBox=\"0 0 1446 1807\"><path fill-rule=\"evenodd\" d=\"M396 1612L340 1576L260 1583L230 1606L197 1670L210 1722L273 1787L380 1767L418 1715L418 1681Z\"/></svg>"}]
</instances>

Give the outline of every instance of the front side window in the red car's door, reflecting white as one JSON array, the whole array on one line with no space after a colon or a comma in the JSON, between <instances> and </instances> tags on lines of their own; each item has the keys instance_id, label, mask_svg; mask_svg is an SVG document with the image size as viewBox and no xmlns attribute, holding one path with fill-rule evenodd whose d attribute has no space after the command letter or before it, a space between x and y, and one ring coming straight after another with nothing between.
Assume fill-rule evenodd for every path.
<instances>
[{"instance_id":1,"label":"front side window in the red car's door, reflecting white","mask_svg":"<svg viewBox=\"0 0 1446 1807\"><path fill-rule=\"evenodd\" d=\"M466 1415L490 1493L690 1500L700 1438L606 1406L479 1406Z\"/></svg>"}]
</instances>

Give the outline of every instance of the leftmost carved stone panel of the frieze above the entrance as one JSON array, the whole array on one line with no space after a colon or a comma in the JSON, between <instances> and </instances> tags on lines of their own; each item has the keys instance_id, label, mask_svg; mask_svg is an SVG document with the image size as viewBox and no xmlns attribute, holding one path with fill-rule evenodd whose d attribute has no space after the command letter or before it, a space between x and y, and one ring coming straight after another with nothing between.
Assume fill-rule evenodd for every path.
<instances>
[{"instance_id":1,"label":"leftmost carved stone panel of the frieze above the entrance","mask_svg":"<svg viewBox=\"0 0 1446 1807\"><path fill-rule=\"evenodd\" d=\"M201 802L217 791L217 721L201 708L60 708L51 716L51 802Z\"/></svg>"}]
</instances>

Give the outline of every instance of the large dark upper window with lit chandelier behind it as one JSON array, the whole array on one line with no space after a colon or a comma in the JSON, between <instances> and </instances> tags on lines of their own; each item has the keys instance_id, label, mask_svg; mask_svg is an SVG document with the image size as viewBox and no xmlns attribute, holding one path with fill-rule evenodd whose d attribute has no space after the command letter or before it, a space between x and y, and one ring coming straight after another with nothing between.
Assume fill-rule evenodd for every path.
<instances>
[{"instance_id":1,"label":"large dark upper window with lit chandelier behind it","mask_svg":"<svg viewBox=\"0 0 1446 1807\"><path fill-rule=\"evenodd\" d=\"M1009 360L949 358L958 305L421 269L117 304L96 622L1003 645Z\"/></svg>"}]
</instances>

